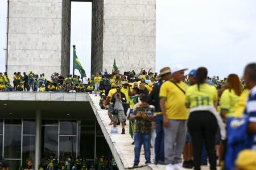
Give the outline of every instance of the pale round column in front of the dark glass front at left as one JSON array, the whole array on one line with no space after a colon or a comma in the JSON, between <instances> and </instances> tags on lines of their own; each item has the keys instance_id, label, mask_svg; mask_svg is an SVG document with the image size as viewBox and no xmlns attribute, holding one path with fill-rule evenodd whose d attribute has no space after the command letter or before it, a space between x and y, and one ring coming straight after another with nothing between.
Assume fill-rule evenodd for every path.
<instances>
[{"instance_id":1,"label":"pale round column in front of the dark glass front at left","mask_svg":"<svg viewBox=\"0 0 256 170\"><path fill-rule=\"evenodd\" d=\"M38 169L38 165L41 160L41 123L42 123L42 115L39 109L36 110L35 116L36 122L36 135L35 135L35 169Z\"/></svg>"}]
</instances>

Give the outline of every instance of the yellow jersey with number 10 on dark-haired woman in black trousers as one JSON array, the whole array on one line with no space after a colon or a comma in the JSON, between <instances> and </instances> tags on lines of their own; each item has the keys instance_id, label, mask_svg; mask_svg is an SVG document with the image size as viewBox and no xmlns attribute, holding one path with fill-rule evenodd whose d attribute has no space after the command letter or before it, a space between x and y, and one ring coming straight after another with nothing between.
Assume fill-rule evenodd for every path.
<instances>
[{"instance_id":1,"label":"yellow jersey with number 10 on dark-haired woman in black trousers","mask_svg":"<svg viewBox=\"0 0 256 170\"><path fill-rule=\"evenodd\" d=\"M200 84L200 90L197 84L190 86L186 91L185 103L191 108L213 105L218 100L216 87L207 83Z\"/></svg>"}]
</instances>

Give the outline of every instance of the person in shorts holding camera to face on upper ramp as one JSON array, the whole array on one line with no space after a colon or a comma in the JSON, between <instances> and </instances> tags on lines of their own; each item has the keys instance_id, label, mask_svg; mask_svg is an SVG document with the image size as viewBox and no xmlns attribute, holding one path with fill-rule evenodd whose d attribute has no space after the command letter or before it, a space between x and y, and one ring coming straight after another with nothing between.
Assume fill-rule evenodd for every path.
<instances>
[{"instance_id":1,"label":"person in shorts holding camera to face on upper ramp","mask_svg":"<svg viewBox=\"0 0 256 170\"><path fill-rule=\"evenodd\" d=\"M125 134L125 111L123 109L123 103L126 103L126 96L121 92L121 87L117 86L117 92L112 96L111 102L113 102L113 126L117 126L117 121L122 122L122 134Z\"/></svg>"}]
</instances>

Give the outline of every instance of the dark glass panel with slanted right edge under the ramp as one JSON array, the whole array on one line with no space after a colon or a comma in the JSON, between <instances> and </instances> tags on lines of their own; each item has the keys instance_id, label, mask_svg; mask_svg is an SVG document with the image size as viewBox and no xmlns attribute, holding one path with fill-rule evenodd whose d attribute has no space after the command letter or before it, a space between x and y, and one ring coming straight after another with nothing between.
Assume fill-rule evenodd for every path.
<instances>
[{"instance_id":1,"label":"dark glass panel with slanted right edge under the ramp","mask_svg":"<svg viewBox=\"0 0 256 170\"><path fill-rule=\"evenodd\" d=\"M112 152L104 137L96 137L96 156L100 158L102 155L111 158Z\"/></svg>"}]
</instances>

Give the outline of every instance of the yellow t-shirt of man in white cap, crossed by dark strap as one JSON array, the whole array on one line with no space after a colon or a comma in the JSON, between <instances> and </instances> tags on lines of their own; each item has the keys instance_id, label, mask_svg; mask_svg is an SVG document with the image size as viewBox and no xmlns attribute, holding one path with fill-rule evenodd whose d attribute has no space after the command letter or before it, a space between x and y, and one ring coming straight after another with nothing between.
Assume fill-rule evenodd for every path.
<instances>
[{"instance_id":1,"label":"yellow t-shirt of man in white cap, crossed by dark strap","mask_svg":"<svg viewBox=\"0 0 256 170\"><path fill-rule=\"evenodd\" d=\"M176 83L183 91L186 91L188 85L184 82ZM159 97L165 98L166 116L172 120L187 120L188 109L185 107L185 94L174 83L166 81L160 88Z\"/></svg>"}]
</instances>

